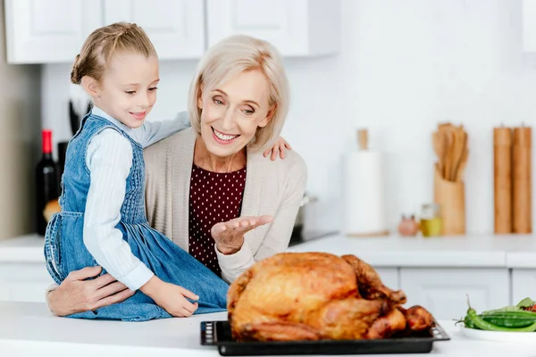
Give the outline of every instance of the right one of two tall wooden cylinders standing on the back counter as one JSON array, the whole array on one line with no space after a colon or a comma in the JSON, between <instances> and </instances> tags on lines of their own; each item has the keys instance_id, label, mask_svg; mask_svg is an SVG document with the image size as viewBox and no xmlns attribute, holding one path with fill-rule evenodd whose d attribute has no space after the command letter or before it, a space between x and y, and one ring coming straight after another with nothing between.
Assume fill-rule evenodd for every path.
<instances>
[{"instance_id":1,"label":"right one of two tall wooden cylinders standing on the back counter","mask_svg":"<svg viewBox=\"0 0 536 357\"><path fill-rule=\"evenodd\" d=\"M532 130L514 129L513 170L513 232L532 233Z\"/></svg>"}]
</instances>

